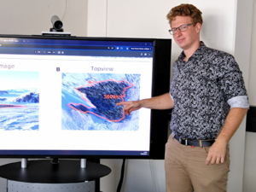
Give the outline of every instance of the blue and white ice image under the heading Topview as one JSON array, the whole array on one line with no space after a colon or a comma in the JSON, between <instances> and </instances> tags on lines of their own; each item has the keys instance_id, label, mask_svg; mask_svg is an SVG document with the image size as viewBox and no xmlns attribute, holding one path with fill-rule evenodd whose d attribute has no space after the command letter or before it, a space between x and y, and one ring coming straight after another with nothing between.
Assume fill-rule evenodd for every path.
<instances>
[{"instance_id":1,"label":"blue and white ice image under the heading Topview","mask_svg":"<svg viewBox=\"0 0 256 192\"><path fill-rule=\"evenodd\" d=\"M139 111L115 104L139 98L140 74L62 73L61 129L138 131Z\"/></svg>"}]
</instances>

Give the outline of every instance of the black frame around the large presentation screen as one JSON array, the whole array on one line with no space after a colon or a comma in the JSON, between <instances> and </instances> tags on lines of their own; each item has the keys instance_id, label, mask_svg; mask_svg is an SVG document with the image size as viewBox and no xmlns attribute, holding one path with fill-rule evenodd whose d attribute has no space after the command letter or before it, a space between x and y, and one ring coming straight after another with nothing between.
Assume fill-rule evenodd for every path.
<instances>
[{"instance_id":1,"label":"black frame around the large presentation screen","mask_svg":"<svg viewBox=\"0 0 256 192\"><path fill-rule=\"evenodd\" d=\"M160 96L170 90L171 73L171 39L159 38L84 38L84 37L50 37L50 36L26 36L26 35L0 35L0 38L40 38L40 39L62 39L62 40L92 40L92 41L132 41L132 42L153 42L153 82L152 96ZM154 159L164 160L165 145L168 137L170 113L169 110L151 110L150 122L150 151L148 156L141 155L40 155L40 154L0 154L0 158L100 158L100 159ZM18 143L17 143L18 144ZM15 150L18 151L18 150Z\"/></svg>"}]
</instances>

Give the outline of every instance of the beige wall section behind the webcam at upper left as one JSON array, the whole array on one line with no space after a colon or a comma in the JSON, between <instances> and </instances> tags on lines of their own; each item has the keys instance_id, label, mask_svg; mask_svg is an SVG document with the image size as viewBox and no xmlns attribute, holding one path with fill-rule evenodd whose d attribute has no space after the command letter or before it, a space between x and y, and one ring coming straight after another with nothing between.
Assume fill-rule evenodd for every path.
<instances>
[{"instance_id":1,"label":"beige wall section behind the webcam at upper left","mask_svg":"<svg viewBox=\"0 0 256 192\"><path fill-rule=\"evenodd\" d=\"M86 36L87 0L67 0L64 32ZM63 17L66 0L0 0L0 34L41 35L52 27L53 15Z\"/></svg>"}]
</instances>

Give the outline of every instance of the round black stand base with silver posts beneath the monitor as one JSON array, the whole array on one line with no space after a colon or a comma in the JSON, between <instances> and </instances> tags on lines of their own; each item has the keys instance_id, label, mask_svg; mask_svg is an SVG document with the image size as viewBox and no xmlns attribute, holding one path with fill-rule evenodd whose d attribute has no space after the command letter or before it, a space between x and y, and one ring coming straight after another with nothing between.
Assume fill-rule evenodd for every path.
<instances>
[{"instance_id":1,"label":"round black stand base with silver posts beneath the monitor","mask_svg":"<svg viewBox=\"0 0 256 192\"><path fill-rule=\"evenodd\" d=\"M80 189L90 192L99 191L97 180L111 172L108 166L85 159L60 160L58 164L52 164L50 160L22 159L21 164L26 168L22 168L20 162L0 166L0 177L8 180L8 191L34 192L35 190L32 189L38 188L42 191L46 189L48 192L52 191L49 188L63 192L80 192Z\"/></svg>"}]
</instances>

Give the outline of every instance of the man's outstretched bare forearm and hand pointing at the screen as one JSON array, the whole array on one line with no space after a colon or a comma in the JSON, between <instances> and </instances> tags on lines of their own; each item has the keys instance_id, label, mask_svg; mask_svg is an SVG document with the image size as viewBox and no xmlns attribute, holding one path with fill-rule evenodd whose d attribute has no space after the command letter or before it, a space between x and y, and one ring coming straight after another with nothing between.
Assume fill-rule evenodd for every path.
<instances>
[{"instance_id":1,"label":"man's outstretched bare forearm and hand pointing at the screen","mask_svg":"<svg viewBox=\"0 0 256 192\"><path fill-rule=\"evenodd\" d=\"M161 96L155 96L150 99L143 99L132 102L119 102L117 106L124 105L123 112L130 115L132 111L139 108L151 108L151 109L169 109L173 108L173 101L169 93Z\"/></svg>"}]
</instances>

